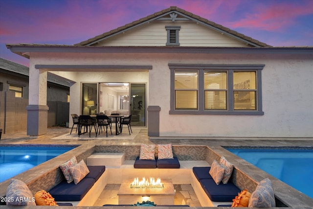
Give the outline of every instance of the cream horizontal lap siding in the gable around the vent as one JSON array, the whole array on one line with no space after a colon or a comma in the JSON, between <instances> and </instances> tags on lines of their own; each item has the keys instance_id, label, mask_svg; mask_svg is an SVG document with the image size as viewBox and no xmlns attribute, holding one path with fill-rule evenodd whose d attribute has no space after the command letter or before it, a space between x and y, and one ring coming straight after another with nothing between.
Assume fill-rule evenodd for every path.
<instances>
[{"instance_id":1,"label":"cream horizontal lap siding in the gable around the vent","mask_svg":"<svg viewBox=\"0 0 313 209\"><path fill-rule=\"evenodd\" d=\"M122 34L112 36L98 46L166 46L166 25L180 26L180 46L246 46L245 43L222 35L208 27L192 21L157 21L138 26Z\"/></svg>"}]
</instances>

